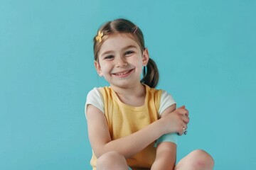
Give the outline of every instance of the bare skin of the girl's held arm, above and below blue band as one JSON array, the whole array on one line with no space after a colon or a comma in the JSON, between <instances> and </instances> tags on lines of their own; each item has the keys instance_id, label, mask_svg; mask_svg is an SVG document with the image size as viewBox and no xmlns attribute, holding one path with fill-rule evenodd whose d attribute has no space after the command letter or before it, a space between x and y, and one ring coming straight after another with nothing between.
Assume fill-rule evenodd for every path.
<instances>
[{"instance_id":1,"label":"bare skin of the girl's held arm, above and below blue band","mask_svg":"<svg viewBox=\"0 0 256 170\"><path fill-rule=\"evenodd\" d=\"M161 114L161 118L167 114L171 114L173 111L175 111L175 109L175 104L169 106L169 108L166 108L164 113ZM151 170L173 170L176 163L176 150L176 145L173 142L161 142L156 148L156 159L151 167Z\"/></svg>"}]
</instances>

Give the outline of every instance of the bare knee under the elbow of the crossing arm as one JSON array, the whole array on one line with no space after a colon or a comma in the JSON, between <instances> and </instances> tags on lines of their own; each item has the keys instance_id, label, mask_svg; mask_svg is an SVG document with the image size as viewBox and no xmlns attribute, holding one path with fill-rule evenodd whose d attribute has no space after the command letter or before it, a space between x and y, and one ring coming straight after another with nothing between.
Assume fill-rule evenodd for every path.
<instances>
[{"instance_id":1,"label":"bare knee under the elbow of the crossing arm","mask_svg":"<svg viewBox=\"0 0 256 170\"><path fill-rule=\"evenodd\" d=\"M97 159L97 170L127 170L128 165L122 154L107 152Z\"/></svg>"}]
</instances>

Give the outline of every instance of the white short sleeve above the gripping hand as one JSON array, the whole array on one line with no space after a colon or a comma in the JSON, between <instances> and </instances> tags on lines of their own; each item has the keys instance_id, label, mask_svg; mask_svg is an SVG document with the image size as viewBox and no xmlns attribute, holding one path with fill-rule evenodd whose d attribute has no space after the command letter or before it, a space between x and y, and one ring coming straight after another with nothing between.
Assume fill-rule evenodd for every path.
<instances>
[{"instance_id":1,"label":"white short sleeve above the gripping hand","mask_svg":"<svg viewBox=\"0 0 256 170\"><path fill-rule=\"evenodd\" d=\"M166 108L173 104L176 104L174 98L171 96L171 94L168 94L166 91L163 90L160 100L159 116L166 110Z\"/></svg>"}]
</instances>

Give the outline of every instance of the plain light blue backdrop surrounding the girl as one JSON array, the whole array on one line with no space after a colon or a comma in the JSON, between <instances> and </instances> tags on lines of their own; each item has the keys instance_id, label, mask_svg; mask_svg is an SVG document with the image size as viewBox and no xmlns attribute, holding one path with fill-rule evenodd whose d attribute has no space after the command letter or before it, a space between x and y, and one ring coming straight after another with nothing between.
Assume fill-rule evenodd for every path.
<instances>
[{"instance_id":1,"label":"plain light blue backdrop surrounding the girl","mask_svg":"<svg viewBox=\"0 0 256 170\"><path fill-rule=\"evenodd\" d=\"M191 123L178 159L205 149L215 169L256 169L256 2L0 1L0 169L90 169L84 103L105 86L92 38L114 18L144 31L159 88Z\"/></svg>"}]
</instances>

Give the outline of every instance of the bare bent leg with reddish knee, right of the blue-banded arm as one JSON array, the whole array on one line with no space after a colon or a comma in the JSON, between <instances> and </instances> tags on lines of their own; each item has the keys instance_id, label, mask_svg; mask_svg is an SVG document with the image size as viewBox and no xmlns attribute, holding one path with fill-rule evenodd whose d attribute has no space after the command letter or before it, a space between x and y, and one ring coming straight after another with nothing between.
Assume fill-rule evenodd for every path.
<instances>
[{"instance_id":1,"label":"bare bent leg with reddish knee, right of the blue-banded arm","mask_svg":"<svg viewBox=\"0 0 256 170\"><path fill-rule=\"evenodd\" d=\"M175 170L212 170L214 160L207 152L197 149L181 159Z\"/></svg>"}]
</instances>

